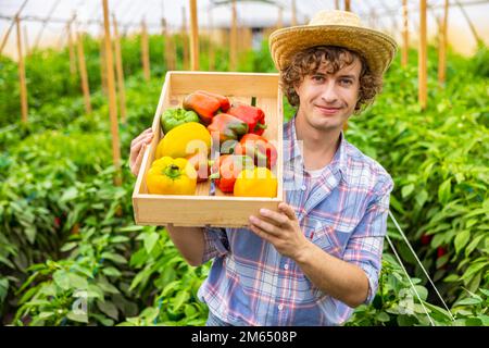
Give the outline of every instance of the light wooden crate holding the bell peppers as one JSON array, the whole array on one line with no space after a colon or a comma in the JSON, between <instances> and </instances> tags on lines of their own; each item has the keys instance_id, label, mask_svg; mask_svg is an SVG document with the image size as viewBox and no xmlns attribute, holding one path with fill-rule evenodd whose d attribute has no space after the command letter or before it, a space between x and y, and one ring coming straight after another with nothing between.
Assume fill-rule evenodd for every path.
<instances>
[{"instance_id":1,"label":"light wooden crate holding the bell peppers","mask_svg":"<svg viewBox=\"0 0 489 348\"><path fill-rule=\"evenodd\" d=\"M166 108L181 107L185 96L203 89L229 97L230 101L251 103L265 112L267 128L263 134L277 148L277 164L272 172L277 176L277 197L235 197L215 190L210 195L211 183L198 183L195 196L150 195L146 187L146 173L154 160L161 138L160 115ZM160 96L152 128L154 138L142 159L133 192L135 221L140 225L223 226L249 225L249 216L259 214L261 208L278 210L283 201L283 95L278 74L167 72Z\"/></svg>"}]
</instances>

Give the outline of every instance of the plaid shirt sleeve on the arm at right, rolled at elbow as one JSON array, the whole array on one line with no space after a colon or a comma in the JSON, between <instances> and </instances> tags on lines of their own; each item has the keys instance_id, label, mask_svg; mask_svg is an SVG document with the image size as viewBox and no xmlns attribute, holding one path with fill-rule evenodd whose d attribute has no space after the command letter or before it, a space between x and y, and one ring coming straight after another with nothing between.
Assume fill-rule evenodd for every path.
<instances>
[{"instance_id":1,"label":"plaid shirt sleeve on the arm at right, rolled at elbow","mask_svg":"<svg viewBox=\"0 0 489 348\"><path fill-rule=\"evenodd\" d=\"M381 270L384 238L387 232L389 197L393 187L390 176L383 182L374 195L365 215L353 231L343 253L343 260L360 266L368 278L368 295L365 304L374 300Z\"/></svg>"}]
</instances>

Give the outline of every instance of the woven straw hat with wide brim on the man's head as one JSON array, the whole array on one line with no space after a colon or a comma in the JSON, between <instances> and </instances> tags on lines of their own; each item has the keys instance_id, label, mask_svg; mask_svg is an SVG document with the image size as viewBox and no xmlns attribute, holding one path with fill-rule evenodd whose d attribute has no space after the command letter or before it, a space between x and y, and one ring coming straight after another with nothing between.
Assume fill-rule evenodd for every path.
<instances>
[{"instance_id":1,"label":"woven straw hat with wide brim on the man's head","mask_svg":"<svg viewBox=\"0 0 489 348\"><path fill-rule=\"evenodd\" d=\"M281 71L293 54L314 46L340 46L363 55L373 74L383 75L397 50L390 36L362 25L360 17L346 11L321 11L308 25L277 29L269 36L269 51Z\"/></svg>"}]
</instances>

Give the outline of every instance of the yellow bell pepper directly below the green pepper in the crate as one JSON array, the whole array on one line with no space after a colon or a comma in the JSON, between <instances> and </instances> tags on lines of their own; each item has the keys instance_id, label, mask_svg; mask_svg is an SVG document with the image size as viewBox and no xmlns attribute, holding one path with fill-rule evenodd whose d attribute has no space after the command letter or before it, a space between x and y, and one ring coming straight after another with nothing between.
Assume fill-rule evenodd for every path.
<instances>
[{"instance_id":1,"label":"yellow bell pepper directly below the green pepper in the crate","mask_svg":"<svg viewBox=\"0 0 489 348\"><path fill-rule=\"evenodd\" d=\"M156 159L164 156L185 158L197 152L211 152L211 134L200 123L188 122L172 128L156 147Z\"/></svg>"}]
</instances>

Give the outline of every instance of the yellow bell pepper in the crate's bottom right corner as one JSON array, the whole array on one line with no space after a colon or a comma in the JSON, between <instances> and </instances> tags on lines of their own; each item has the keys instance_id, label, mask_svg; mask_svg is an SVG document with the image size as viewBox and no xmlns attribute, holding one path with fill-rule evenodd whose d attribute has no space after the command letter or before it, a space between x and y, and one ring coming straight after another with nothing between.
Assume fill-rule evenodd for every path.
<instances>
[{"instance_id":1,"label":"yellow bell pepper in the crate's bottom right corner","mask_svg":"<svg viewBox=\"0 0 489 348\"><path fill-rule=\"evenodd\" d=\"M264 166L243 170L235 182L234 195L241 197L277 197L278 182Z\"/></svg>"}]
</instances>

